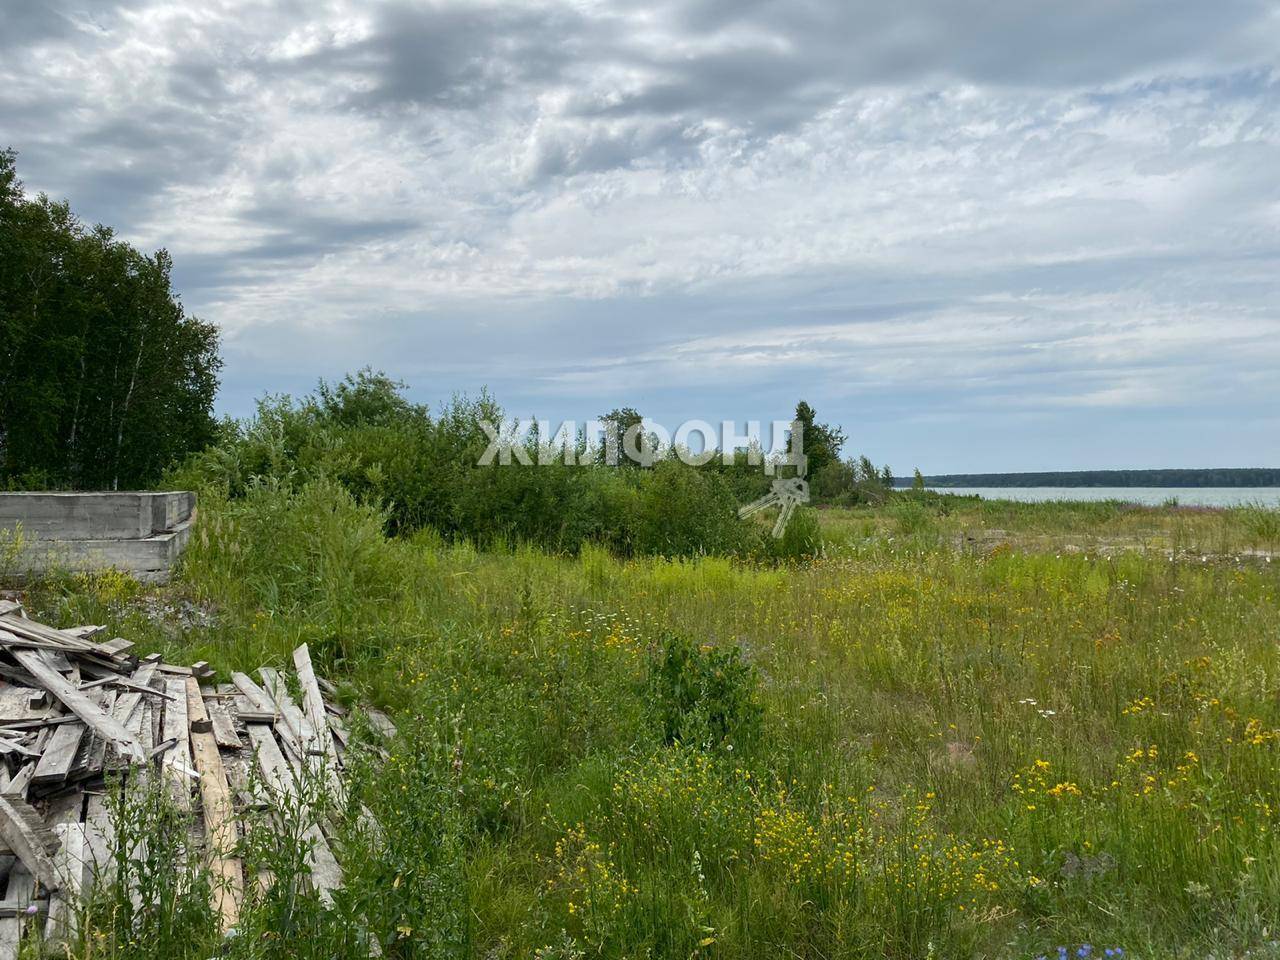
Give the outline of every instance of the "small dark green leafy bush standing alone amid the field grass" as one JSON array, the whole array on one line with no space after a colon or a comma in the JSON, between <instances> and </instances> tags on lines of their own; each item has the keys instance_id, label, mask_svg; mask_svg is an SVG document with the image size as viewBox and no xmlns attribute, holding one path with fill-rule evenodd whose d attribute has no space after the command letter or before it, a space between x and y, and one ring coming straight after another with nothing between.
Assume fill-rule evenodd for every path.
<instances>
[{"instance_id":1,"label":"small dark green leafy bush standing alone amid the field grass","mask_svg":"<svg viewBox=\"0 0 1280 960\"><path fill-rule=\"evenodd\" d=\"M737 646L704 648L681 634L664 634L649 696L668 744L733 750L759 739L758 678Z\"/></svg>"}]
</instances>

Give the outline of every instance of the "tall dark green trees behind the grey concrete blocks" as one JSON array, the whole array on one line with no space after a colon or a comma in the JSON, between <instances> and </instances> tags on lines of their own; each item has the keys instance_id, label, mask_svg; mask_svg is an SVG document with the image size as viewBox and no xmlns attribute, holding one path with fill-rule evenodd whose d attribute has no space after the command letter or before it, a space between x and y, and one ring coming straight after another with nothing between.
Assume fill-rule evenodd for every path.
<instances>
[{"instance_id":1,"label":"tall dark green trees behind the grey concrete blocks","mask_svg":"<svg viewBox=\"0 0 1280 960\"><path fill-rule=\"evenodd\" d=\"M0 152L0 483L148 486L216 435L218 330L166 251L28 200Z\"/></svg>"}]
</instances>

